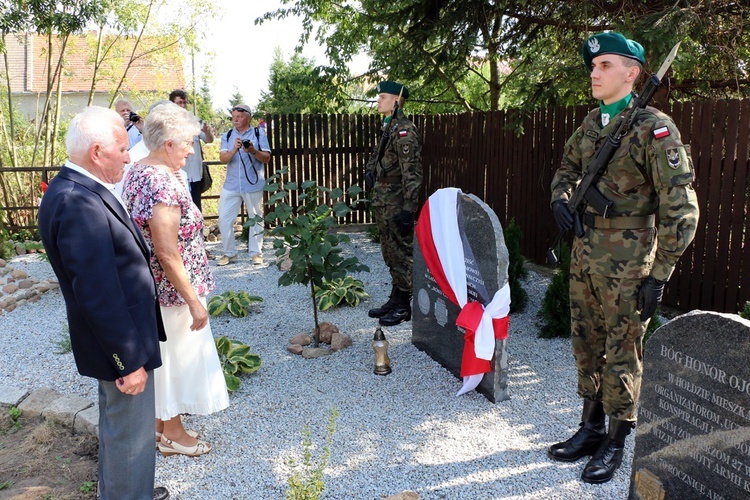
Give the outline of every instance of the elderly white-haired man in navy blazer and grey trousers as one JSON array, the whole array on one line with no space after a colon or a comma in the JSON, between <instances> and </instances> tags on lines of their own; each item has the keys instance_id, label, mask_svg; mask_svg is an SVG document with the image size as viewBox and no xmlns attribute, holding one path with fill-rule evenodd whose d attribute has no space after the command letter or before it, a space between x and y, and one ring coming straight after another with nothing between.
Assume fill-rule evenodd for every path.
<instances>
[{"instance_id":1,"label":"elderly white-haired man in navy blazer and grey trousers","mask_svg":"<svg viewBox=\"0 0 750 500\"><path fill-rule=\"evenodd\" d=\"M114 194L130 161L114 111L89 107L70 122L70 160L50 182L39 232L65 298L81 375L99 380L99 496L164 498L154 490L153 370L166 340L149 249Z\"/></svg>"}]
</instances>

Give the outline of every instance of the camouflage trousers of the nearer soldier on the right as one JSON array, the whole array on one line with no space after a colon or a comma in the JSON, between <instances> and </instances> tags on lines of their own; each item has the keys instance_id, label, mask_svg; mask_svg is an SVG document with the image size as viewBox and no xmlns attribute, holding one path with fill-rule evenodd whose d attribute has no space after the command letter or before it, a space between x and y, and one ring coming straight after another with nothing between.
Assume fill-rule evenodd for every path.
<instances>
[{"instance_id":1,"label":"camouflage trousers of the nearer soldier on the right","mask_svg":"<svg viewBox=\"0 0 750 500\"><path fill-rule=\"evenodd\" d=\"M648 321L636 311L641 279L609 278L570 268L570 320L578 395L604 412L635 421Z\"/></svg>"}]
</instances>

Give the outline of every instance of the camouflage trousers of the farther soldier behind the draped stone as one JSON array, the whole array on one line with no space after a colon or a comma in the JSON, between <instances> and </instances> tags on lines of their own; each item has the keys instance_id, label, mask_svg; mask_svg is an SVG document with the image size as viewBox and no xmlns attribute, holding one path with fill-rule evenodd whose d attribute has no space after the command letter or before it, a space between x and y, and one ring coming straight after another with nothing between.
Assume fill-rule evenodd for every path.
<instances>
[{"instance_id":1,"label":"camouflage trousers of the farther soldier behind the draped stone","mask_svg":"<svg viewBox=\"0 0 750 500\"><path fill-rule=\"evenodd\" d=\"M411 294L411 274L414 268L414 231L401 236L393 218L401 212L400 206L376 206L375 219L380 233L380 249L385 265L391 271L391 283L401 291Z\"/></svg>"}]
</instances>

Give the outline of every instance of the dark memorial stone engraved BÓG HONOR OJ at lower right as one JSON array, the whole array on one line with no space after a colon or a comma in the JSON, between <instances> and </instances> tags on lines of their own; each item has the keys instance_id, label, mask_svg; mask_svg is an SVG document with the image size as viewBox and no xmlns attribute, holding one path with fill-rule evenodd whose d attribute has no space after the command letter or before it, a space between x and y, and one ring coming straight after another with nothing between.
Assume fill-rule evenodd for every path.
<instances>
[{"instance_id":1,"label":"dark memorial stone engraved B\u00d3G HONOR OJ at lower right","mask_svg":"<svg viewBox=\"0 0 750 500\"><path fill-rule=\"evenodd\" d=\"M646 344L631 499L750 498L750 322L693 311Z\"/></svg>"}]
</instances>

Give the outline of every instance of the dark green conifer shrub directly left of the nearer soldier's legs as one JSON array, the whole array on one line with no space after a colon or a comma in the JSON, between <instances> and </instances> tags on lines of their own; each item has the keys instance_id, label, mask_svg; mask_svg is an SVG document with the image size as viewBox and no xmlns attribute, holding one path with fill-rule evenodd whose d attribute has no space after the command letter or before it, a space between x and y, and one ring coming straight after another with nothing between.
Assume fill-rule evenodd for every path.
<instances>
[{"instance_id":1,"label":"dark green conifer shrub directly left of the nearer soldier's legs","mask_svg":"<svg viewBox=\"0 0 750 500\"><path fill-rule=\"evenodd\" d=\"M570 337L570 249L563 242L560 266L544 293L538 316L541 319L539 337L551 339Z\"/></svg>"}]
</instances>

